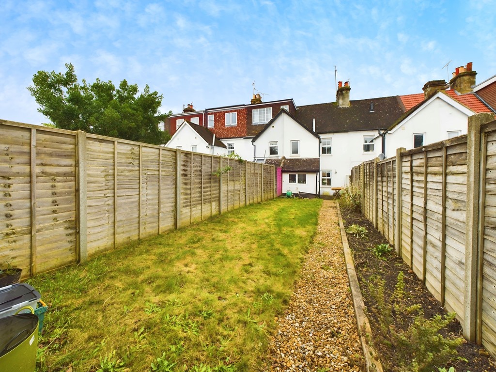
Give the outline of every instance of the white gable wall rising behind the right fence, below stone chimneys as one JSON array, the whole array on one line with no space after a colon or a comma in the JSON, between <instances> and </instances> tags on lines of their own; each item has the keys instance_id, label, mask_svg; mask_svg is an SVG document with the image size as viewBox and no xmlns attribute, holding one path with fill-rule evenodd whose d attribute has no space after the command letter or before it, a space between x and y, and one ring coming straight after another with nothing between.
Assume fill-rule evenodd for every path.
<instances>
[{"instance_id":1,"label":"white gable wall rising behind the right fence, below stone chimneys","mask_svg":"<svg viewBox=\"0 0 496 372\"><path fill-rule=\"evenodd\" d=\"M443 98L437 94L386 134L386 157L396 156L400 147L412 149L415 133L425 133L424 145L448 139L448 131L467 134L468 117L474 113L449 97Z\"/></svg>"}]
</instances>

